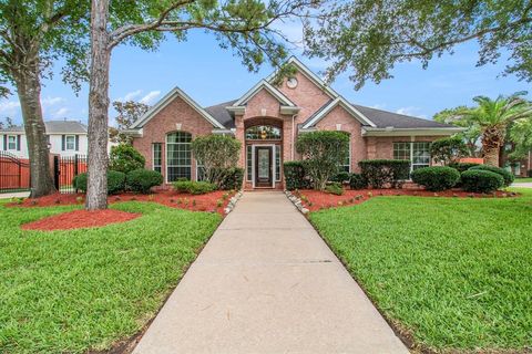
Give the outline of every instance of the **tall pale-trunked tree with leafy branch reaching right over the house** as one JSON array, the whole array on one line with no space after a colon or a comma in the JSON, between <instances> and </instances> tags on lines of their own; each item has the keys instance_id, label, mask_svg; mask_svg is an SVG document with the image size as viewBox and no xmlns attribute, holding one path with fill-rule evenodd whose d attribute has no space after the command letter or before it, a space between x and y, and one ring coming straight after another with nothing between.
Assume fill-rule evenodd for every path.
<instances>
[{"instance_id":1,"label":"tall pale-trunked tree with leafy branch reaching right over the house","mask_svg":"<svg viewBox=\"0 0 532 354\"><path fill-rule=\"evenodd\" d=\"M265 61L280 65L287 53L275 20L303 15L315 0L93 0L89 93L89 184L86 208L106 208L109 71L112 50L124 42L154 49L172 33L185 41L192 30L214 33L248 70Z\"/></svg>"}]
</instances>

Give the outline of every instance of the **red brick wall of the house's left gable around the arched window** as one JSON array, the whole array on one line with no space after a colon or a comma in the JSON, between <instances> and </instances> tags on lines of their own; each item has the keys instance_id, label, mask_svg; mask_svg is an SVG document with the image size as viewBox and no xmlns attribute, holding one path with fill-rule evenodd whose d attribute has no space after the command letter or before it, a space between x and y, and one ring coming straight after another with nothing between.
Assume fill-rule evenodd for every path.
<instances>
[{"instance_id":1,"label":"red brick wall of the house's left gable around the arched window","mask_svg":"<svg viewBox=\"0 0 532 354\"><path fill-rule=\"evenodd\" d=\"M198 135L207 135L213 131L213 125L200 113L191 107L181 97L174 98L166 107L158 112L143 127L143 136L133 139L133 147L146 158L146 168L151 169L152 144L162 143L162 173L166 180L166 134L176 132L176 124L181 123L181 131ZM192 178L196 178L196 163L192 162Z\"/></svg>"}]
</instances>

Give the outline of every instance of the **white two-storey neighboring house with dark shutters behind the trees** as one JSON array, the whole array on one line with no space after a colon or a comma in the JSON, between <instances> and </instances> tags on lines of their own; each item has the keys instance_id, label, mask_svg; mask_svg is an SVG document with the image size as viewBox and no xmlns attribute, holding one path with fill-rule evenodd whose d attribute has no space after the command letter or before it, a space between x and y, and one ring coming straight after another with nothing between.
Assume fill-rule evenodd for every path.
<instances>
[{"instance_id":1,"label":"white two-storey neighboring house with dark shutters behind the trees","mask_svg":"<svg viewBox=\"0 0 532 354\"><path fill-rule=\"evenodd\" d=\"M76 121L44 122L50 153L61 156L86 155L86 125ZM0 148L17 157L28 158L23 126L0 129Z\"/></svg>"}]
</instances>

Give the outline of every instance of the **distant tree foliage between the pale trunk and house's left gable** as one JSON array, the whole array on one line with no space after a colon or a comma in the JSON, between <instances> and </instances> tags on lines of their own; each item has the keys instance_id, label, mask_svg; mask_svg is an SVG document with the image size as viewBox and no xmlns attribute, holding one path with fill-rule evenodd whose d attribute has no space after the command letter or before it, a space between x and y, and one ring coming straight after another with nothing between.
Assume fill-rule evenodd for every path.
<instances>
[{"instance_id":1,"label":"distant tree foliage between the pale trunk and house's left gable","mask_svg":"<svg viewBox=\"0 0 532 354\"><path fill-rule=\"evenodd\" d=\"M109 138L113 143L131 144L131 136L125 135L123 131L127 129L135 121L142 117L150 106L134 101L115 101L113 102L113 107L119 115L114 118L116 127L109 128Z\"/></svg>"}]
</instances>

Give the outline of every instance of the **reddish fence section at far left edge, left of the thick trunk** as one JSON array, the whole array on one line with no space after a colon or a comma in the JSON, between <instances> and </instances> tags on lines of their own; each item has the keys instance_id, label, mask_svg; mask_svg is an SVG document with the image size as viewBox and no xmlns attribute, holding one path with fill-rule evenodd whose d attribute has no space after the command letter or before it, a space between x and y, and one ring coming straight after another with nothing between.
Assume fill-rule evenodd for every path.
<instances>
[{"instance_id":1,"label":"reddish fence section at far left edge, left of the thick trunk","mask_svg":"<svg viewBox=\"0 0 532 354\"><path fill-rule=\"evenodd\" d=\"M0 192L30 189L30 163L8 152L0 152Z\"/></svg>"}]
</instances>

